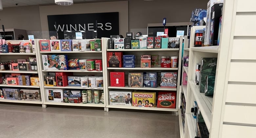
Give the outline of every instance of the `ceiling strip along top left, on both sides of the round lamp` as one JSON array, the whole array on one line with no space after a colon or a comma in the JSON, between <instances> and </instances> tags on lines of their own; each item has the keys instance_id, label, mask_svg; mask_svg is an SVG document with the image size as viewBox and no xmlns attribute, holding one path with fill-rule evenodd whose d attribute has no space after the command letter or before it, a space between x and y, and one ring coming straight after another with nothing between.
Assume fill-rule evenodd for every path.
<instances>
[{"instance_id":1,"label":"ceiling strip along top left, on both sides of the round lamp","mask_svg":"<svg viewBox=\"0 0 256 138\"><path fill-rule=\"evenodd\" d=\"M75 3L102 2L102 1L118 1L118 0L73 0ZM120 0L119 0L120 1ZM3 8L28 6L28 5L54 5L54 0L2 0Z\"/></svg>"}]
</instances>

